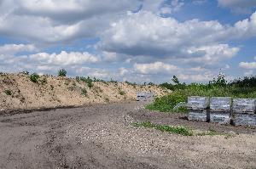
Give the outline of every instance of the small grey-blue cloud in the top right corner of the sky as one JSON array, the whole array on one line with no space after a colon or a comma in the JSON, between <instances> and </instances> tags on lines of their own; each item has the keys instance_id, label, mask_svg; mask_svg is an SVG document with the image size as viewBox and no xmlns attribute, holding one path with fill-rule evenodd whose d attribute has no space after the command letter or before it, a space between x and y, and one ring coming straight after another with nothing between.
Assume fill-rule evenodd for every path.
<instances>
[{"instance_id":1,"label":"small grey-blue cloud in the top right corner of the sky","mask_svg":"<svg viewBox=\"0 0 256 169\"><path fill-rule=\"evenodd\" d=\"M231 8L234 12L250 13L256 8L256 1L253 0L218 0L218 5L224 8Z\"/></svg>"}]
</instances>

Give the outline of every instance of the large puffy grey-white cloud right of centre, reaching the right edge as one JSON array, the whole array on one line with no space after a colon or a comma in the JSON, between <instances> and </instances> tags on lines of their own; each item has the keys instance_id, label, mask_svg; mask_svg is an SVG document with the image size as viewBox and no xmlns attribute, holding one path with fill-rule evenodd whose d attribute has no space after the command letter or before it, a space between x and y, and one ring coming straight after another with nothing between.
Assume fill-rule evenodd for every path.
<instances>
[{"instance_id":1,"label":"large puffy grey-white cloud right of centre, reaching the right edge","mask_svg":"<svg viewBox=\"0 0 256 169\"><path fill-rule=\"evenodd\" d=\"M216 20L179 22L144 11L129 13L113 22L102 35L98 48L148 59L194 59L210 63L229 59L239 52L239 48L230 47L231 40L255 36L256 12L250 19L230 26Z\"/></svg>"}]
</instances>

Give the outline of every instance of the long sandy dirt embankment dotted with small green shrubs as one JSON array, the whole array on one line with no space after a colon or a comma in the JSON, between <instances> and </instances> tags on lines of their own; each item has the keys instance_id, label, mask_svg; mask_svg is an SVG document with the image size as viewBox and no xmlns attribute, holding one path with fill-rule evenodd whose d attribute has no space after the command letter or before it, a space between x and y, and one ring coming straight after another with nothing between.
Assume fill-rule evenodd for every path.
<instances>
[{"instance_id":1,"label":"long sandy dirt embankment dotted with small green shrubs","mask_svg":"<svg viewBox=\"0 0 256 169\"><path fill-rule=\"evenodd\" d=\"M139 91L163 95L157 86L132 85L126 82L88 82L59 76L40 76L32 82L29 75L0 75L0 110L29 110L60 106L79 106L135 100Z\"/></svg>"}]
</instances>

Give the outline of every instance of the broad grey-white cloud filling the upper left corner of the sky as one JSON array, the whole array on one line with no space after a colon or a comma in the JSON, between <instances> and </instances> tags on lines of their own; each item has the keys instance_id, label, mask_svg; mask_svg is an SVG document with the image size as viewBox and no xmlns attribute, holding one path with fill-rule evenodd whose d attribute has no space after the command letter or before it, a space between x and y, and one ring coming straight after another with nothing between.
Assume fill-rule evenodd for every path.
<instances>
[{"instance_id":1,"label":"broad grey-white cloud filling the upper left corner of the sky","mask_svg":"<svg viewBox=\"0 0 256 169\"><path fill-rule=\"evenodd\" d=\"M96 37L110 20L137 8L139 0L3 0L0 34L32 42L67 42Z\"/></svg>"}]
</instances>

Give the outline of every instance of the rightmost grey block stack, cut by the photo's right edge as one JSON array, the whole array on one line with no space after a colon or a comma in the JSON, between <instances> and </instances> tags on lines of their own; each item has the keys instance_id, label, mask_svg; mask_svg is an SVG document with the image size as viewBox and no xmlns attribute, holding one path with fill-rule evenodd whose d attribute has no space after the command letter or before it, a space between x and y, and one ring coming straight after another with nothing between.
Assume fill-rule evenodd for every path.
<instances>
[{"instance_id":1,"label":"rightmost grey block stack, cut by the photo's right edge","mask_svg":"<svg viewBox=\"0 0 256 169\"><path fill-rule=\"evenodd\" d=\"M256 99L233 99L234 123L236 126L256 126Z\"/></svg>"}]
</instances>

